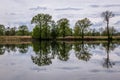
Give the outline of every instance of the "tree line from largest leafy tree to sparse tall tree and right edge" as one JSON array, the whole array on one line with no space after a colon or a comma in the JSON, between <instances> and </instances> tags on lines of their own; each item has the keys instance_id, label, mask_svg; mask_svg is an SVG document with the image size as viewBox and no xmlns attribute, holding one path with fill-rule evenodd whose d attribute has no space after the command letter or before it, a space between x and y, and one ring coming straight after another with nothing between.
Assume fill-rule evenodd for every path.
<instances>
[{"instance_id":1,"label":"tree line from largest leafy tree to sparse tall tree and right edge","mask_svg":"<svg viewBox=\"0 0 120 80\"><path fill-rule=\"evenodd\" d=\"M90 29L92 25L88 18L78 20L75 23L74 28L70 28L69 20L67 18L59 19L57 22L52 20L52 16L49 14L37 14L31 20L35 27L32 32L33 38L56 38L66 36L108 36L110 39L112 35L119 35L120 33L114 27L109 26L110 18L114 16L111 11L105 11L101 14L106 22L105 28Z\"/></svg>"}]
</instances>

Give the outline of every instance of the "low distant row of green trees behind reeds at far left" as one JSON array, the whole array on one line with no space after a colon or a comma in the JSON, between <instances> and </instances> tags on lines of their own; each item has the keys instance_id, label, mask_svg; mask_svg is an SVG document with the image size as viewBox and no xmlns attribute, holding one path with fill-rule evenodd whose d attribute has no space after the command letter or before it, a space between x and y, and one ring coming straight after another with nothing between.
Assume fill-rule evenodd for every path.
<instances>
[{"instance_id":1,"label":"low distant row of green trees behind reeds at far left","mask_svg":"<svg viewBox=\"0 0 120 80\"><path fill-rule=\"evenodd\" d=\"M30 35L28 27L26 25L19 26L18 29L16 27L5 27L0 24L0 36L24 36Z\"/></svg>"}]
</instances>

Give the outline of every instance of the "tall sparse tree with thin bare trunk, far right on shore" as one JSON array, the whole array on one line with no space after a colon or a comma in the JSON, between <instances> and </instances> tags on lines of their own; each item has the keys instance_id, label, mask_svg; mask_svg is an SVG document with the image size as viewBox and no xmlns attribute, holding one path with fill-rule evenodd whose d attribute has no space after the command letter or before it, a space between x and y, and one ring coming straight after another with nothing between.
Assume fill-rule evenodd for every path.
<instances>
[{"instance_id":1,"label":"tall sparse tree with thin bare trunk, far right on shore","mask_svg":"<svg viewBox=\"0 0 120 80\"><path fill-rule=\"evenodd\" d=\"M110 21L110 18L114 17L114 14L112 13L112 11L105 11L101 14L101 16L103 17L104 21L107 22L107 35L108 35L108 39L110 39L109 21Z\"/></svg>"}]
</instances>

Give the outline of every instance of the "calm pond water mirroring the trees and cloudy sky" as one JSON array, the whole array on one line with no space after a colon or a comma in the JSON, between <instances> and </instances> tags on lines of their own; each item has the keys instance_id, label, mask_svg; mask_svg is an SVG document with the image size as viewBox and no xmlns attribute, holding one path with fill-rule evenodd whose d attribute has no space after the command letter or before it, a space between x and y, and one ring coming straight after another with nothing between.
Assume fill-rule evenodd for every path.
<instances>
[{"instance_id":1,"label":"calm pond water mirroring the trees and cloudy sky","mask_svg":"<svg viewBox=\"0 0 120 80\"><path fill-rule=\"evenodd\" d=\"M119 80L120 44L0 44L0 80Z\"/></svg>"}]
</instances>

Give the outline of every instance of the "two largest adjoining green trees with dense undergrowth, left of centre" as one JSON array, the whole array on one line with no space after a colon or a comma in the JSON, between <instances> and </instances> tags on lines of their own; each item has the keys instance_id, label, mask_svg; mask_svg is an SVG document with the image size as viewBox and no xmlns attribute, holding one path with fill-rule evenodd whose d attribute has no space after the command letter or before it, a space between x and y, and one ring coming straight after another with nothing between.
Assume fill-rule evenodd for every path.
<instances>
[{"instance_id":1,"label":"two largest adjoining green trees with dense undergrowth, left of centre","mask_svg":"<svg viewBox=\"0 0 120 80\"><path fill-rule=\"evenodd\" d=\"M62 18L55 22L49 14L38 14L34 16L31 23L35 24L32 32L33 38L56 38L58 36L72 35L72 29L69 26L69 20Z\"/></svg>"}]
</instances>

